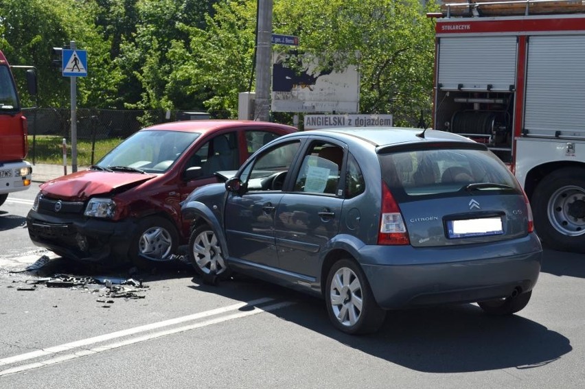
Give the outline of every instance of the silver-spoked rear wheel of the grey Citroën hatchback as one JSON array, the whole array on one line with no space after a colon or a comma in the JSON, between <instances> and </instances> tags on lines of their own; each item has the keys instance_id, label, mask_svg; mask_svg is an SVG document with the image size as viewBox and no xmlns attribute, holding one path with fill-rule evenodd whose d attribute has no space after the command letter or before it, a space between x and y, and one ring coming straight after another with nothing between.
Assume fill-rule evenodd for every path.
<instances>
[{"instance_id":1,"label":"silver-spoked rear wheel of the grey Citro\u00ebn hatchback","mask_svg":"<svg viewBox=\"0 0 585 389\"><path fill-rule=\"evenodd\" d=\"M325 303L333 325L345 333L378 331L386 311L380 308L360 266L351 259L334 263L327 276Z\"/></svg>"}]
</instances>

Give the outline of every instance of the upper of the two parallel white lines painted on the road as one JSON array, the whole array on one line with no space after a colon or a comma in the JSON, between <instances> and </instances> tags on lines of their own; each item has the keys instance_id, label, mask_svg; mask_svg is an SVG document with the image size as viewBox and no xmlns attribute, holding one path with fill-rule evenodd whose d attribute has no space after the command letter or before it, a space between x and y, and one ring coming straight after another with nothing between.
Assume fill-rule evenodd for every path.
<instances>
[{"instance_id":1,"label":"upper of the two parallel white lines painted on the road","mask_svg":"<svg viewBox=\"0 0 585 389\"><path fill-rule=\"evenodd\" d=\"M52 346L52 347L49 347L47 349L40 349L37 351L32 351L30 353L24 353L21 355L14 355L14 357L7 357L7 358L0 359L0 366L14 364L16 362L23 362L23 361L26 361L28 359L43 357L45 355L50 355L50 354L54 354L54 353L61 353L62 351L76 349L76 348L81 347L81 346L88 346L89 344L95 344L98 342L105 342L106 340L122 338L122 336L134 335L136 333L141 333L141 332L145 332L145 331L152 331L153 329L168 327L170 325L177 325L177 324L191 321L191 320L198 320L201 318L207 318L209 316L224 314L225 312L235 311L236 309L240 309L240 308L246 307L248 305L264 304L264 303L268 303L269 301L272 301L272 300L274 300L274 299L273 298L258 298L257 300L252 300L249 302L244 301L242 303L229 305L227 307L211 309L209 311L203 311L203 312L199 312L197 314L182 316L180 318L163 320L161 322L155 322L155 323L152 323L149 325L141 325L139 327L124 329L122 331L116 331L116 332L112 332L112 333L106 333L104 335L94 336L93 338L77 340L76 342L61 344L59 346Z\"/></svg>"}]
</instances>

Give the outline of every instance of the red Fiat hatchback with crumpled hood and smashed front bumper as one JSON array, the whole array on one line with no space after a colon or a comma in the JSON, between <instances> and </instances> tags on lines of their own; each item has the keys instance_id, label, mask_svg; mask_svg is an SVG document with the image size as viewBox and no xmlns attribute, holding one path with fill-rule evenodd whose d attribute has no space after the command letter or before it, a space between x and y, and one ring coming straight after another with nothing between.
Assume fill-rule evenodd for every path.
<instances>
[{"instance_id":1,"label":"red Fiat hatchback with crumpled hood and smashed front bumper","mask_svg":"<svg viewBox=\"0 0 585 389\"><path fill-rule=\"evenodd\" d=\"M295 132L277 123L194 120L144 128L89 170L41 185L27 215L30 238L62 257L138 266L168 261L186 244L181 202L218 182L268 141Z\"/></svg>"}]
</instances>

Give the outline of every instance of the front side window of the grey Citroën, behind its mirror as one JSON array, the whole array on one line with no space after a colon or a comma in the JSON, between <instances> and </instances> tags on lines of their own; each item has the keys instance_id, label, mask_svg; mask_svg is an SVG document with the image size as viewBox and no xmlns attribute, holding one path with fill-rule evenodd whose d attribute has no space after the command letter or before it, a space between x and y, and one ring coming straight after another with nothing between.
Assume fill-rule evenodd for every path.
<instances>
[{"instance_id":1,"label":"front side window of the grey Citro\u00ebn, behind its mirror","mask_svg":"<svg viewBox=\"0 0 585 389\"><path fill-rule=\"evenodd\" d=\"M242 170L240 174L242 185L247 191L282 189L300 144L300 141L281 143L257 156Z\"/></svg>"}]
</instances>

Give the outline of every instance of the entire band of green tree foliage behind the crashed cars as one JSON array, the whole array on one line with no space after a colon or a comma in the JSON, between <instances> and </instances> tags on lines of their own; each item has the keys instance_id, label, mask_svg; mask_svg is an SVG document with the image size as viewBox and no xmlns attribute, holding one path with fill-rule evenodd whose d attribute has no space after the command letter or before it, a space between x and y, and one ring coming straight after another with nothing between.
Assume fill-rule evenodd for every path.
<instances>
[{"instance_id":1,"label":"entire band of green tree foliage behind the crashed cars","mask_svg":"<svg viewBox=\"0 0 585 389\"><path fill-rule=\"evenodd\" d=\"M1 0L0 48L12 64L38 69L43 106L69 105L69 78L50 54L75 40L89 62L88 77L78 78L80 108L236 117L238 93L254 89L256 7L242 0ZM323 68L355 65L361 113L391 113L395 124L417 126L431 119L434 29L425 13L436 8L419 0L273 0L273 32L299 36L297 49ZM157 120L142 118L144 125Z\"/></svg>"}]
</instances>

